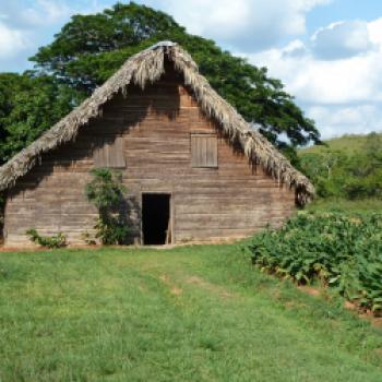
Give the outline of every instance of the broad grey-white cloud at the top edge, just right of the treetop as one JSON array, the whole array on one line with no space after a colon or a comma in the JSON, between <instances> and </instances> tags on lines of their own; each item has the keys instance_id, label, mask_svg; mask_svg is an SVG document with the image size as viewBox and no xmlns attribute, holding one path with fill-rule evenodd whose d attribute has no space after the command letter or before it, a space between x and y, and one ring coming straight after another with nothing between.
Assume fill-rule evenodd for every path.
<instances>
[{"instance_id":1,"label":"broad grey-white cloud at the top edge, just right of the treetop","mask_svg":"<svg viewBox=\"0 0 382 382\"><path fill-rule=\"evenodd\" d=\"M147 3L147 1L142 1ZM189 32L242 51L268 48L306 32L306 14L331 0L151 0Z\"/></svg>"}]
</instances>

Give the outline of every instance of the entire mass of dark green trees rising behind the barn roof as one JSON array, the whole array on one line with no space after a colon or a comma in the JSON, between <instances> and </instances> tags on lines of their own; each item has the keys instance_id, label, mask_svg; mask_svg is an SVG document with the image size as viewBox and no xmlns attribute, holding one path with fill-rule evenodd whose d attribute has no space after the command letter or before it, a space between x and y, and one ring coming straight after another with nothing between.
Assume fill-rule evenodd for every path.
<instances>
[{"instance_id":1,"label":"entire mass of dark green trees rising behind the barn roof","mask_svg":"<svg viewBox=\"0 0 382 382\"><path fill-rule=\"evenodd\" d=\"M159 40L183 46L212 86L293 160L296 147L320 141L314 122L265 68L189 34L164 12L130 2L73 15L29 59L34 70L0 73L0 165L89 96L129 57Z\"/></svg>"}]
</instances>

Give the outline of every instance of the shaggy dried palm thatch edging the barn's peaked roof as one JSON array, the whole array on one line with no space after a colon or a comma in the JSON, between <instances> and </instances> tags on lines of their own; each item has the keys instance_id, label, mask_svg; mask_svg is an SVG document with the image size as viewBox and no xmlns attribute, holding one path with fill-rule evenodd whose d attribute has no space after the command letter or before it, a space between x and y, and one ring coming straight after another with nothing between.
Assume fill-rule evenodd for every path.
<instances>
[{"instance_id":1,"label":"shaggy dried palm thatch edging the barn's peaked roof","mask_svg":"<svg viewBox=\"0 0 382 382\"><path fill-rule=\"evenodd\" d=\"M165 72L166 57L174 62L176 70L183 74L186 85L193 91L203 111L218 121L226 136L241 144L250 160L260 164L279 182L296 188L301 204L313 196L314 188L311 182L211 87L187 51L169 41L156 44L131 57L89 98L3 165L0 168L0 191L12 187L17 178L35 166L41 154L74 140L80 129L92 118L99 116L105 103L118 92L121 91L129 97L129 84L144 88L146 84L158 81Z\"/></svg>"}]
</instances>

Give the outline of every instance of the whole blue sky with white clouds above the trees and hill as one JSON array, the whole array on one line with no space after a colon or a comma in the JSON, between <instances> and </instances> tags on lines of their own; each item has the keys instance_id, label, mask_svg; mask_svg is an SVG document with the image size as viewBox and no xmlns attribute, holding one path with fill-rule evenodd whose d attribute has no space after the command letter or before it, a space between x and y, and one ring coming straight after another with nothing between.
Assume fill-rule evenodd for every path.
<instances>
[{"instance_id":1,"label":"whole blue sky with white clouds above the trees and hill","mask_svg":"<svg viewBox=\"0 0 382 382\"><path fill-rule=\"evenodd\" d=\"M75 13L109 0L0 0L0 71L23 71ZM124 1L123 1L124 2ZM268 68L323 138L382 131L381 0L136 0Z\"/></svg>"}]
</instances>

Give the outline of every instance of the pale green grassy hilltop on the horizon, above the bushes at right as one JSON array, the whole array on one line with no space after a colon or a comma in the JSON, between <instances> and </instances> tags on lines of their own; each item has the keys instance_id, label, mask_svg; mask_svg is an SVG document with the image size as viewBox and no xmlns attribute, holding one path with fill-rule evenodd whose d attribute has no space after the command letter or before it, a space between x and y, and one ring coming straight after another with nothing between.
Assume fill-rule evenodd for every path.
<instances>
[{"instance_id":1,"label":"pale green grassy hilltop on the horizon, above the bushes at right","mask_svg":"<svg viewBox=\"0 0 382 382\"><path fill-rule=\"evenodd\" d=\"M346 134L339 138L324 141L326 145L314 145L299 151L299 155L308 153L322 153L327 148L339 151L344 154L355 154L356 152L365 152L370 141L382 150L382 133L370 133L367 135Z\"/></svg>"}]
</instances>

